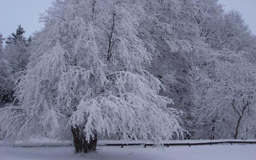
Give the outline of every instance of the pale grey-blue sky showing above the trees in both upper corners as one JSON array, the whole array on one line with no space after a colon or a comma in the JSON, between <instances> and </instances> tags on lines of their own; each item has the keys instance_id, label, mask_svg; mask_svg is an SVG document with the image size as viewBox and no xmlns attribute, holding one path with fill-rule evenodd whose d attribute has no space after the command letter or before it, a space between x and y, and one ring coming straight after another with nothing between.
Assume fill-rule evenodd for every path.
<instances>
[{"instance_id":1,"label":"pale grey-blue sky showing above the trees in both upper corners","mask_svg":"<svg viewBox=\"0 0 256 160\"><path fill-rule=\"evenodd\" d=\"M52 0L0 0L0 33L7 37L16 32L19 24L25 28L28 37L32 32L40 30L39 14L51 6ZM246 24L256 34L256 0L220 0L226 10L238 10L242 13Z\"/></svg>"}]
</instances>

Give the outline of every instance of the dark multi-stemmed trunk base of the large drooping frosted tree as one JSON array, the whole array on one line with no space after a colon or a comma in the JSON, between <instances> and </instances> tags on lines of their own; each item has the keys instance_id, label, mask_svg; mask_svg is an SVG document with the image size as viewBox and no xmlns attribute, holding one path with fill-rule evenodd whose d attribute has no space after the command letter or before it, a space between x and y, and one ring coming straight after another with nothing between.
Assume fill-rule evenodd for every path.
<instances>
[{"instance_id":1,"label":"dark multi-stemmed trunk base of the large drooping frosted tree","mask_svg":"<svg viewBox=\"0 0 256 160\"><path fill-rule=\"evenodd\" d=\"M71 131L73 134L73 141L74 141L76 153L82 152L82 151L84 151L84 153L88 153L92 150L96 150L97 141L98 141L97 134L94 134L94 138L91 137L90 141L88 142L82 130L80 130L78 127L74 128L72 126Z\"/></svg>"}]
</instances>

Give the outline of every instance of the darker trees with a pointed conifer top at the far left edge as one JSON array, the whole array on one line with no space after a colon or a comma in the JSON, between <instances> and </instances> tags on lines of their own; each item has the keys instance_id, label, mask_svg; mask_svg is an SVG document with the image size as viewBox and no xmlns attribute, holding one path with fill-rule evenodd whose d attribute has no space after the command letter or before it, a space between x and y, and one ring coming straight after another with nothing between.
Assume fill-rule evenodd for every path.
<instances>
[{"instance_id":1,"label":"darker trees with a pointed conifer top at the far left edge","mask_svg":"<svg viewBox=\"0 0 256 160\"><path fill-rule=\"evenodd\" d=\"M13 102L14 82L20 71L25 69L28 63L29 50L28 43L24 37L25 30L20 25L16 33L6 38L6 46L2 50L2 34L1 34L1 50L0 50L0 63L1 63L1 102L2 105Z\"/></svg>"}]
</instances>

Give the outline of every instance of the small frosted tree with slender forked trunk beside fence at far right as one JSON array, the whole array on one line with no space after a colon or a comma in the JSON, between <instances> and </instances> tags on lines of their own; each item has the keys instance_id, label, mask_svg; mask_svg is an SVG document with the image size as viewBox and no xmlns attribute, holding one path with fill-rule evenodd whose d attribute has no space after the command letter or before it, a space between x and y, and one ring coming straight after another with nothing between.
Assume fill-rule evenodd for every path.
<instances>
[{"instance_id":1,"label":"small frosted tree with slender forked trunk beside fence at far right","mask_svg":"<svg viewBox=\"0 0 256 160\"><path fill-rule=\"evenodd\" d=\"M256 70L253 64L242 57L239 54L223 56L224 61L216 68L218 81L206 92L205 100L206 104L212 106L206 105L208 108L205 111L214 117L216 133L222 134L218 127L225 127L225 131L231 132L234 139L238 137L242 118L246 117L248 109L255 112ZM230 128L233 130L228 130Z\"/></svg>"}]
</instances>

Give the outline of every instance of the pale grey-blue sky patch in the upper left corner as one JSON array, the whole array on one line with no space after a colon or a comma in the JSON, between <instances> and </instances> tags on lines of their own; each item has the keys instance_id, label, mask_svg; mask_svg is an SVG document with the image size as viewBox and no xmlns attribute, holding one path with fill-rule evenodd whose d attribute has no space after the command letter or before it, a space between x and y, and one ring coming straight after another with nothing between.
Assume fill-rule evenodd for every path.
<instances>
[{"instance_id":1,"label":"pale grey-blue sky patch in the upper left corner","mask_svg":"<svg viewBox=\"0 0 256 160\"><path fill-rule=\"evenodd\" d=\"M52 0L0 0L0 33L7 37L21 24L26 30L25 36L30 36L42 27L39 14L51 4Z\"/></svg>"}]
</instances>

